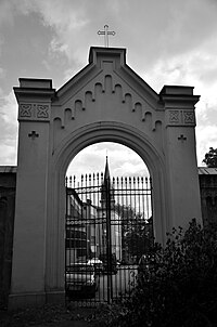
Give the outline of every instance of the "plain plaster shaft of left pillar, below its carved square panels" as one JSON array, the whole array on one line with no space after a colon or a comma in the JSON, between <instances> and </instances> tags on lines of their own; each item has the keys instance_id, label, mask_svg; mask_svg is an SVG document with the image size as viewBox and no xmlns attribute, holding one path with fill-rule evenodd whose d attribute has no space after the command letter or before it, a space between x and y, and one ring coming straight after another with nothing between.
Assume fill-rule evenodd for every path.
<instances>
[{"instance_id":1,"label":"plain plaster shaft of left pillar, below its carved square panels","mask_svg":"<svg viewBox=\"0 0 217 327\"><path fill-rule=\"evenodd\" d=\"M37 126L43 142L28 138L35 127L20 125L12 293L44 291L49 125Z\"/></svg>"}]
</instances>

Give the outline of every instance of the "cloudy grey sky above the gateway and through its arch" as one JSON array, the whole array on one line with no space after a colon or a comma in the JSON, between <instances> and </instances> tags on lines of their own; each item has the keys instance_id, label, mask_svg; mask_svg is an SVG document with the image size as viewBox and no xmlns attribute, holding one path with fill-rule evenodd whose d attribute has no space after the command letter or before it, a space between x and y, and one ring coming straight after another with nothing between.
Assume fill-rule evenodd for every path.
<instances>
[{"instance_id":1,"label":"cloudy grey sky above the gateway and through its arch","mask_svg":"<svg viewBox=\"0 0 217 327\"><path fill-rule=\"evenodd\" d=\"M16 165L18 78L49 78L58 90L88 64L90 47L104 45L105 24L116 31L110 45L126 48L127 64L157 93L186 84L201 95L197 165L217 147L217 0L0 0L0 165ZM131 152L110 144L107 153L112 169L141 173ZM98 171L105 156L94 145L74 165Z\"/></svg>"}]
</instances>

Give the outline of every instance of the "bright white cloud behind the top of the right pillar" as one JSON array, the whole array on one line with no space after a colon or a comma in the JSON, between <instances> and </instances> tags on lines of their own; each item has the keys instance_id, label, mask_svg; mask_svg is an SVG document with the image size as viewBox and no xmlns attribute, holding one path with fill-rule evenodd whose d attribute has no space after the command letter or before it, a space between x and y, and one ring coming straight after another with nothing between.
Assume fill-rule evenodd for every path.
<instances>
[{"instance_id":1,"label":"bright white cloud behind the top of the right pillar","mask_svg":"<svg viewBox=\"0 0 217 327\"><path fill-rule=\"evenodd\" d=\"M216 44L217 45L217 44ZM194 87L201 95L196 104L196 153L197 165L209 146L217 147L217 57L209 49L178 54L173 58L159 60L146 78L157 92L164 84Z\"/></svg>"}]
</instances>

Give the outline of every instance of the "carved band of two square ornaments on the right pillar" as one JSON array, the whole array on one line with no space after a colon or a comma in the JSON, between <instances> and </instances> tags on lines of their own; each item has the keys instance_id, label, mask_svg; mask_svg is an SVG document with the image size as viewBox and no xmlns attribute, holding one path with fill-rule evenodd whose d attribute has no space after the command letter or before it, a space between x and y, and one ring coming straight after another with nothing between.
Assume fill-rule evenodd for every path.
<instances>
[{"instance_id":1,"label":"carved band of two square ornaments on the right pillar","mask_svg":"<svg viewBox=\"0 0 217 327\"><path fill-rule=\"evenodd\" d=\"M166 112L167 126L195 126L194 110L169 109Z\"/></svg>"}]
</instances>

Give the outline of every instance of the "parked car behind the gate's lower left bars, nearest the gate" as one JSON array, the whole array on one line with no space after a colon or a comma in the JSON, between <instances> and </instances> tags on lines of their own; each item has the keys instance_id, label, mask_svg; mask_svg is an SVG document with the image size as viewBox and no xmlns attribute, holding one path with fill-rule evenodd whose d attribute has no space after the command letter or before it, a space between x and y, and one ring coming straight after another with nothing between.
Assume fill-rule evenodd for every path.
<instances>
[{"instance_id":1,"label":"parked car behind the gate's lower left bars, nearest the gate","mask_svg":"<svg viewBox=\"0 0 217 327\"><path fill-rule=\"evenodd\" d=\"M74 263L66 269L65 284L65 291L69 298L93 298L99 278L92 264Z\"/></svg>"}]
</instances>

